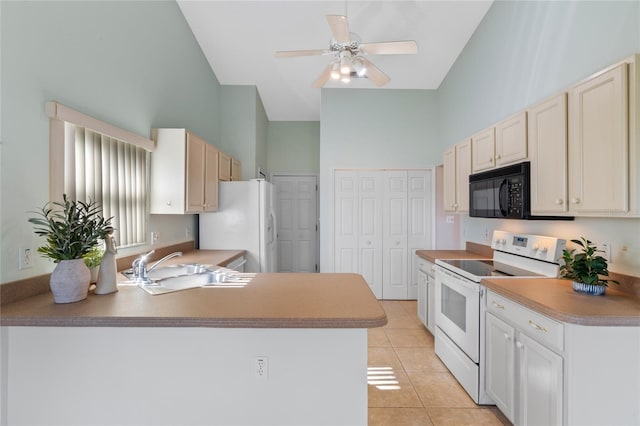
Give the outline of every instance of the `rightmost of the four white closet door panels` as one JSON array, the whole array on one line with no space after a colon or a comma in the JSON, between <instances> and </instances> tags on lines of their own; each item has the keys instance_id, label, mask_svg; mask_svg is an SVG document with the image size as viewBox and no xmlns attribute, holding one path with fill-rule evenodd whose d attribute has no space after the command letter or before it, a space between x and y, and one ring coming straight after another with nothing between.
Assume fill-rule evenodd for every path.
<instances>
[{"instance_id":1,"label":"rightmost of the four white closet door panels","mask_svg":"<svg viewBox=\"0 0 640 426\"><path fill-rule=\"evenodd\" d=\"M409 170L407 172L407 276L410 277L407 298L418 297L418 264L416 250L433 248L433 173L431 170Z\"/></svg>"}]
</instances>

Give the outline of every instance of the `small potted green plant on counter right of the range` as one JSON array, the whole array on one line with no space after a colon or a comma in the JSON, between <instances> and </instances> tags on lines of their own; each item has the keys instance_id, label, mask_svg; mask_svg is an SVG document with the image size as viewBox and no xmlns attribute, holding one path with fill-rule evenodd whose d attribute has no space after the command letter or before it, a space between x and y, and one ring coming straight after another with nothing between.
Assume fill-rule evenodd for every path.
<instances>
[{"instance_id":1,"label":"small potted green plant on counter right of the range","mask_svg":"<svg viewBox=\"0 0 640 426\"><path fill-rule=\"evenodd\" d=\"M607 278L607 260L598 254L602 250L598 250L584 237L571 242L577 244L580 251L562 251L564 265L560 266L560 276L573 280L572 286L575 291L599 296L605 293L609 282L619 284L618 281Z\"/></svg>"}]
</instances>

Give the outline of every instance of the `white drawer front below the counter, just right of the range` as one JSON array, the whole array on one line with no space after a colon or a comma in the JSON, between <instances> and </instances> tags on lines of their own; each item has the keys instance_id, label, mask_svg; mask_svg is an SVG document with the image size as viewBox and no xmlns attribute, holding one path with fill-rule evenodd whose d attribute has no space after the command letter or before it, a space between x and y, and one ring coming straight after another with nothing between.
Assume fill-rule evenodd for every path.
<instances>
[{"instance_id":1,"label":"white drawer front below the counter, just right of the range","mask_svg":"<svg viewBox=\"0 0 640 426\"><path fill-rule=\"evenodd\" d=\"M513 300L487 290L487 311L515 325L519 331L550 349L564 350L564 325Z\"/></svg>"}]
</instances>

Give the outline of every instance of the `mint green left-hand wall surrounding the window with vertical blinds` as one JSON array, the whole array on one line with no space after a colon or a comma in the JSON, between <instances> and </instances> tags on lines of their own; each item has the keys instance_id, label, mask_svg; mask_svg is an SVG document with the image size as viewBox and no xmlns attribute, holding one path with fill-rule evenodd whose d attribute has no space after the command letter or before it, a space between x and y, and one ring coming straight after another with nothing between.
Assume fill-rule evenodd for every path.
<instances>
[{"instance_id":1,"label":"mint green left-hand wall surrounding the window with vertical blinds","mask_svg":"<svg viewBox=\"0 0 640 426\"><path fill-rule=\"evenodd\" d=\"M19 247L40 244L28 212L48 198L46 101L146 137L152 127L177 126L215 140L220 85L175 2L1 1L0 8L4 283L53 267L36 256L33 268L17 269ZM155 230L160 242L184 239L193 223L170 217Z\"/></svg>"}]
</instances>

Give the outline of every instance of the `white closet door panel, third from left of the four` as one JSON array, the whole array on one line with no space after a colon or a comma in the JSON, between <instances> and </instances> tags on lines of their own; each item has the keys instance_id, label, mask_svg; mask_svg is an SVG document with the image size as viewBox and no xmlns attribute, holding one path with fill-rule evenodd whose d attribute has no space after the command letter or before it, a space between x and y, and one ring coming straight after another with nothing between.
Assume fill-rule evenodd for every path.
<instances>
[{"instance_id":1,"label":"white closet door panel, third from left of the four","mask_svg":"<svg viewBox=\"0 0 640 426\"><path fill-rule=\"evenodd\" d=\"M408 297L407 172L385 171L383 191L383 283L385 299Z\"/></svg>"}]
</instances>

